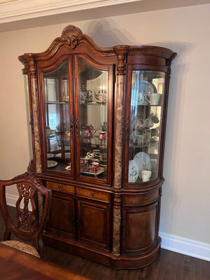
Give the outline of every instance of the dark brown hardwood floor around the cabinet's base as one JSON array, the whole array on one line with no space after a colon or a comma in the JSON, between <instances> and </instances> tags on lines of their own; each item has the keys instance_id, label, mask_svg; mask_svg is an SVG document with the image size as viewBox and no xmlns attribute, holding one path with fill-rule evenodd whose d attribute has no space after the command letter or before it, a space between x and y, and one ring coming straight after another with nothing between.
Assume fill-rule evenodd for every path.
<instances>
[{"instance_id":1,"label":"dark brown hardwood floor around the cabinet's base","mask_svg":"<svg viewBox=\"0 0 210 280\"><path fill-rule=\"evenodd\" d=\"M10 211L13 208L10 207ZM5 225L0 213L0 241ZM80 258L76 255L44 246L44 259L86 276L92 280L209 280L210 262L174 253L165 249L153 264L141 269L114 270L105 265ZM61 279L62 280L62 279Z\"/></svg>"}]
</instances>

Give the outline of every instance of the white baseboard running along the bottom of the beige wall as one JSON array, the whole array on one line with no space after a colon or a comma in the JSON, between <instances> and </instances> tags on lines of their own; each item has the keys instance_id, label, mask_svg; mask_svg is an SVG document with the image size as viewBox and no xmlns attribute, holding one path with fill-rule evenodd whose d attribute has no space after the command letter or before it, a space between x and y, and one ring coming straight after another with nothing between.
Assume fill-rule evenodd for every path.
<instances>
[{"instance_id":1,"label":"white baseboard running along the bottom of the beige wall","mask_svg":"<svg viewBox=\"0 0 210 280\"><path fill-rule=\"evenodd\" d=\"M6 195L6 202L11 207L15 207L17 199L16 195ZM169 235L165 232L160 232L159 235L162 238L161 248L210 261L210 244Z\"/></svg>"}]
</instances>

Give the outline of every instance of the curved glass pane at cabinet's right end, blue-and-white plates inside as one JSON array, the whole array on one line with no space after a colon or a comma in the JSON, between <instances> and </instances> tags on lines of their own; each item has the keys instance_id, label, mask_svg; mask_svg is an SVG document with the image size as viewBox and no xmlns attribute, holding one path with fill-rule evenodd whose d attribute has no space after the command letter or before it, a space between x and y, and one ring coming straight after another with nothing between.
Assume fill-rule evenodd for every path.
<instances>
[{"instance_id":1,"label":"curved glass pane at cabinet's right end, blue-and-white plates inside","mask_svg":"<svg viewBox=\"0 0 210 280\"><path fill-rule=\"evenodd\" d=\"M165 73L132 70L127 105L127 183L158 178Z\"/></svg>"}]
</instances>

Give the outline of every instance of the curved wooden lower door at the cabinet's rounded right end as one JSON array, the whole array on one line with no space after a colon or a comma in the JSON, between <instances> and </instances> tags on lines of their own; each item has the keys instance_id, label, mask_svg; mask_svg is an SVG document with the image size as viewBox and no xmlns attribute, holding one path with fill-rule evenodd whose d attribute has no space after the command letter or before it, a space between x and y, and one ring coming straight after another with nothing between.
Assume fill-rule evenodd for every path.
<instances>
[{"instance_id":1,"label":"curved wooden lower door at the cabinet's rounded right end","mask_svg":"<svg viewBox=\"0 0 210 280\"><path fill-rule=\"evenodd\" d=\"M139 255L149 251L157 239L158 203L123 209L122 253Z\"/></svg>"}]
</instances>

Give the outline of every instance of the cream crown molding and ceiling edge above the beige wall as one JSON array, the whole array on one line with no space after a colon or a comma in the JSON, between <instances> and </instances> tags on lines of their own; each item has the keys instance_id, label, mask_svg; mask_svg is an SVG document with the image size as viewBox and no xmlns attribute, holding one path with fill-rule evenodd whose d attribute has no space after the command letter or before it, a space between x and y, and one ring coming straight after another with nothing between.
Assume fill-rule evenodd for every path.
<instances>
[{"instance_id":1,"label":"cream crown molding and ceiling edge above the beige wall","mask_svg":"<svg viewBox=\"0 0 210 280\"><path fill-rule=\"evenodd\" d=\"M0 0L0 31L204 3L210 0Z\"/></svg>"}]
</instances>

